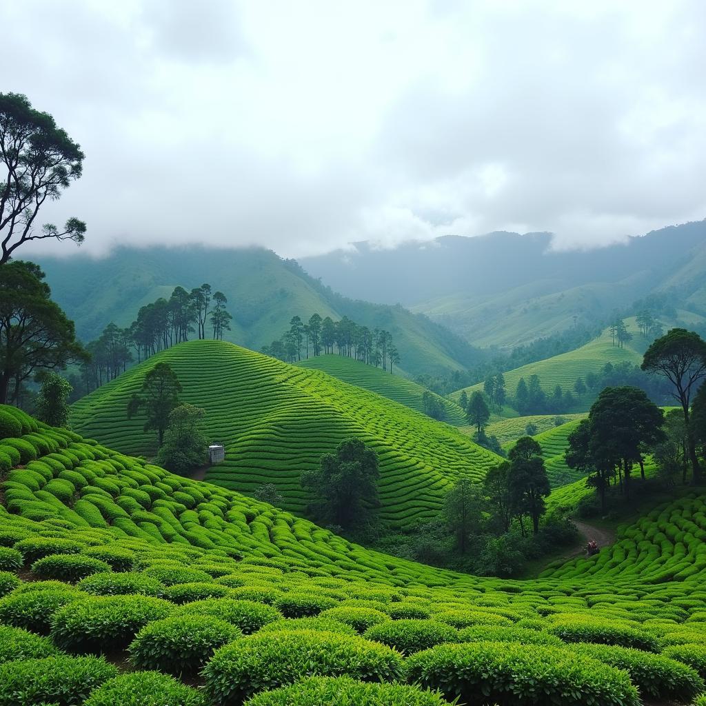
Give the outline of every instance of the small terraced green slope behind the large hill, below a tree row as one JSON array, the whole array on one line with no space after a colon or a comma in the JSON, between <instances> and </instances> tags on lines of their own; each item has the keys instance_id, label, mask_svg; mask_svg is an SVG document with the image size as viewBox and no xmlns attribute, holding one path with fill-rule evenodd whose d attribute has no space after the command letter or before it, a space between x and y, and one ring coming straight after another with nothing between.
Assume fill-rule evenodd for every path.
<instances>
[{"instance_id":1,"label":"small terraced green slope behind the large hill, below a tree row","mask_svg":"<svg viewBox=\"0 0 706 706\"><path fill-rule=\"evenodd\" d=\"M349 385L356 385L388 397L390 400L400 402L400 405L416 409L417 412L422 411L421 397L426 392L426 388L398 375L390 375L380 368L373 368L360 361L335 354L312 357L297 363L297 366L309 370L321 370ZM467 424L465 414L459 405L444 397L439 399L446 409L444 421L455 426Z\"/></svg>"}]
</instances>

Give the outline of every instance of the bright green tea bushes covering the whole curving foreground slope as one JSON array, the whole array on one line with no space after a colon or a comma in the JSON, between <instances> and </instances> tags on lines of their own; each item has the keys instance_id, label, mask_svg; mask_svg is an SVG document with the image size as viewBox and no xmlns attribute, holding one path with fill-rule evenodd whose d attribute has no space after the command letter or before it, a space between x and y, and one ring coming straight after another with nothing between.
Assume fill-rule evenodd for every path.
<instances>
[{"instance_id":1,"label":"bright green tea bushes covering the whole curving foreground slope","mask_svg":"<svg viewBox=\"0 0 706 706\"><path fill-rule=\"evenodd\" d=\"M0 407L0 706L690 704L706 502L481 579Z\"/></svg>"}]
</instances>

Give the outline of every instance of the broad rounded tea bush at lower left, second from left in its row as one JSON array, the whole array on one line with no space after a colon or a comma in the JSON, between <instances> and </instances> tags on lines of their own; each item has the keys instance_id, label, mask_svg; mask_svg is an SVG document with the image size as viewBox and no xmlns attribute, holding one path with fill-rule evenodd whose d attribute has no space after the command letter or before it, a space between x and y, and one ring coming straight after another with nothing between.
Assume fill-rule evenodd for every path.
<instances>
[{"instance_id":1,"label":"broad rounded tea bush at lower left, second from left in its row","mask_svg":"<svg viewBox=\"0 0 706 706\"><path fill-rule=\"evenodd\" d=\"M64 650L100 652L126 647L147 623L173 606L151 596L92 596L54 615L52 638Z\"/></svg>"}]
</instances>

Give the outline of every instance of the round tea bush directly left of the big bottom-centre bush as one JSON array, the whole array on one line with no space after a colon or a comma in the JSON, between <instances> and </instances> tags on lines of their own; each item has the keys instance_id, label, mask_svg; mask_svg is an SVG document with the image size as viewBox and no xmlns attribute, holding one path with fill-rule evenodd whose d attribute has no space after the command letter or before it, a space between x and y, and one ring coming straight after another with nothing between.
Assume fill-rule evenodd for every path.
<instances>
[{"instance_id":1,"label":"round tea bush directly left of the big bottom-centre bush","mask_svg":"<svg viewBox=\"0 0 706 706\"><path fill-rule=\"evenodd\" d=\"M210 616L164 618L140 630L130 645L131 662L143 669L189 674L241 635L231 623Z\"/></svg>"}]
</instances>

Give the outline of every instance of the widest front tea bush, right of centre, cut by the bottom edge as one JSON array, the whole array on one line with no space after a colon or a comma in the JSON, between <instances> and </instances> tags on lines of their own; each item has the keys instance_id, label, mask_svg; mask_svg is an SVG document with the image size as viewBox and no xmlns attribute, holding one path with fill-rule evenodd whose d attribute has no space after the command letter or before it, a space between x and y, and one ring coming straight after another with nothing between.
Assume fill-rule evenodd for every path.
<instances>
[{"instance_id":1,"label":"widest front tea bush, right of centre, cut by the bottom edge","mask_svg":"<svg viewBox=\"0 0 706 706\"><path fill-rule=\"evenodd\" d=\"M638 706L626 672L570 650L514 642L437 645L407 658L407 681L461 702Z\"/></svg>"}]
</instances>

